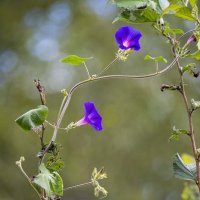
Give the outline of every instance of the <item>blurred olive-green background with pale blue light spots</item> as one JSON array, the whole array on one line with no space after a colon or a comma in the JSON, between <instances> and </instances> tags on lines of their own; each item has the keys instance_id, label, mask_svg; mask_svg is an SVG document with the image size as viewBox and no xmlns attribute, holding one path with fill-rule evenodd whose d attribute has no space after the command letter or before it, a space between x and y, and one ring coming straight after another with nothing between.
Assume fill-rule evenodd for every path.
<instances>
[{"instance_id":1,"label":"blurred olive-green background with pale blue light spots","mask_svg":"<svg viewBox=\"0 0 200 200\"><path fill-rule=\"evenodd\" d=\"M69 54L94 57L88 62L91 74L99 73L117 52L114 33L124 23L112 24L117 16L106 0L1 0L0 1L0 199L37 199L15 161L26 158L29 176L37 174L39 137L25 134L14 120L40 104L33 80L39 78L46 88L48 120L55 122L62 100L60 90L70 89L86 78L83 67L59 63ZM184 30L189 23L173 21ZM152 30L151 24L135 25L143 33L142 49L127 62L118 62L110 74L147 74L154 63L144 61L146 54L172 60L169 44ZM188 36L189 37L189 36ZM189 61L186 61L188 63ZM163 64L161 64L163 65ZM110 200L178 200L182 182L173 178L172 156L191 153L190 141L168 142L170 131L187 129L181 96L162 93L162 83L179 83L176 69L145 80L105 80L84 85L72 98L63 127L83 116L83 103L93 101L103 117L104 131L96 133L83 126L68 134L60 131L65 168L64 187L89 181L94 167L105 167L108 179L102 185ZM199 79L190 76L187 89L199 99ZM195 113L195 132L199 134L199 113ZM49 141L52 128L47 128ZM199 137L197 138L199 141ZM90 186L68 190L67 200L92 200Z\"/></svg>"}]
</instances>

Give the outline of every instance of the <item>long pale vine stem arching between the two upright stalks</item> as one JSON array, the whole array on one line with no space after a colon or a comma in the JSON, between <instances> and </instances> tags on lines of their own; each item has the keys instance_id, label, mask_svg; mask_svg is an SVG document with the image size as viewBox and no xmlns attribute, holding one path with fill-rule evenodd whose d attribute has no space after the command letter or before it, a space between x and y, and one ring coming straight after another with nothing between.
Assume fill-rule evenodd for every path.
<instances>
[{"instance_id":1,"label":"long pale vine stem arching between the two upright stalks","mask_svg":"<svg viewBox=\"0 0 200 200\"><path fill-rule=\"evenodd\" d=\"M48 152L48 150L51 148L52 145L54 145L55 141L56 141L56 137L57 137L57 133L58 133L58 129L60 127L60 124L62 122L62 119L65 115L65 112L68 108L68 105L70 103L71 97L74 93L74 91L79 88L80 86L89 83L89 82L93 82L93 81L99 81L99 80L105 80L105 79L144 79L144 78L150 78L150 77L154 77L154 76L158 76L161 75L165 72L167 72L170 68L172 68L174 66L174 64L176 63L176 61L179 59L180 56L177 56L174 58L174 60L164 69L160 70L160 71L156 71L155 73L151 73L151 74L146 74L146 75L106 75L106 76L98 76L98 77L92 77L90 79L81 81L79 83L77 83L76 85L74 85L71 90L69 91L68 95L66 97L64 97L63 102L62 102L62 109L60 111L60 116L57 119L57 123L54 126L54 132L51 138L50 143L47 145L46 149L43 152L43 155L41 157L41 160L43 160L45 154Z\"/></svg>"}]
</instances>

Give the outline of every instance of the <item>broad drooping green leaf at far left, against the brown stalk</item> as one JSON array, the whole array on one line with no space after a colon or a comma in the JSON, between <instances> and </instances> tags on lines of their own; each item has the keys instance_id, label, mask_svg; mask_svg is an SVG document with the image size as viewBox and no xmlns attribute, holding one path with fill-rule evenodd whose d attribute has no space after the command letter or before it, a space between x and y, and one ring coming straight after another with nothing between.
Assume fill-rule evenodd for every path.
<instances>
[{"instance_id":1,"label":"broad drooping green leaf at far left, against the brown stalk","mask_svg":"<svg viewBox=\"0 0 200 200\"><path fill-rule=\"evenodd\" d=\"M24 113L15 121L25 131L30 131L31 129L41 125L46 120L47 116L47 106L40 105L37 108Z\"/></svg>"}]
</instances>

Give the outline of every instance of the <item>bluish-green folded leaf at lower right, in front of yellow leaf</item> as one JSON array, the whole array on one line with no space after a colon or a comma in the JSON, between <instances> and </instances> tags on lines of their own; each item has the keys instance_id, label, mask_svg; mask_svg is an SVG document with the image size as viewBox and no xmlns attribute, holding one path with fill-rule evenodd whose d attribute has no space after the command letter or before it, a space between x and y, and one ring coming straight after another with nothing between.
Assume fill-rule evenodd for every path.
<instances>
[{"instance_id":1,"label":"bluish-green folded leaf at lower right, in front of yellow leaf","mask_svg":"<svg viewBox=\"0 0 200 200\"><path fill-rule=\"evenodd\" d=\"M197 180L196 165L186 165L178 153L173 158L173 172L176 178L182 180L191 180L194 182Z\"/></svg>"}]
</instances>

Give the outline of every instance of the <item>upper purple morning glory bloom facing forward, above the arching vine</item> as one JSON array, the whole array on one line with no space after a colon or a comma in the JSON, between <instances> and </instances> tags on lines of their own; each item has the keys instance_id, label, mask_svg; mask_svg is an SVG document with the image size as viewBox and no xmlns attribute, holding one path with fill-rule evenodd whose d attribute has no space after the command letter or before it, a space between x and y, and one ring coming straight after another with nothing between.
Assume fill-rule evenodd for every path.
<instances>
[{"instance_id":1,"label":"upper purple morning glory bloom facing forward, above the arching vine","mask_svg":"<svg viewBox=\"0 0 200 200\"><path fill-rule=\"evenodd\" d=\"M131 26L123 26L115 33L115 39L120 49L134 49L135 51L140 50L139 40L142 37L140 31L135 30Z\"/></svg>"}]
</instances>

